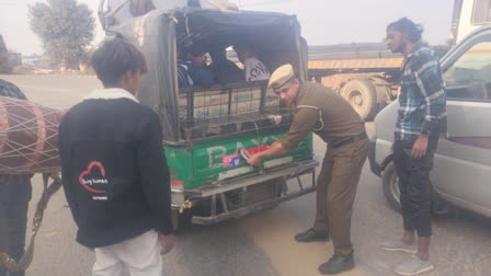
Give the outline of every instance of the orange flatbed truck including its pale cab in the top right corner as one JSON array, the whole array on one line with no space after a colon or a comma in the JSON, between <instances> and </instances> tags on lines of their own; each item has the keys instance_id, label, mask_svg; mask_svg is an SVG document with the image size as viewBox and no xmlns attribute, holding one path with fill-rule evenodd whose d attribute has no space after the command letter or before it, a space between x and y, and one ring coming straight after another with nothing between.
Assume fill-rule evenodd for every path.
<instances>
[{"instance_id":1,"label":"orange flatbed truck including its pale cab in the top right corner","mask_svg":"<svg viewBox=\"0 0 491 276\"><path fill-rule=\"evenodd\" d=\"M432 47L442 57L450 46L491 23L491 0L454 0L446 45ZM375 117L399 91L401 55L382 43L310 46L309 79L341 93L365 120Z\"/></svg>"}]
</instances>

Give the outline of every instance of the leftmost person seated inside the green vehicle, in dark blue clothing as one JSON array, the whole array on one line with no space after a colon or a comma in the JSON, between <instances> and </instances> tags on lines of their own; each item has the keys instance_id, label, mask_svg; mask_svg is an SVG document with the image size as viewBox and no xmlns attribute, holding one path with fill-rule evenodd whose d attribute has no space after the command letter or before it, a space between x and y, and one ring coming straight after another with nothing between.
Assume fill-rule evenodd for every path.
<instances>
[{"instance_id":1,"label":"leftmost person seated inside the green vehicle, in dark blue clothing","mask_svg":"<svg viewBox=\"0 0 491 276\"><path fill-rule=\"evenodd\" d=\"M182 54L178 59L179 88L210 88L214 84L214 76L206 68L205 53L196 48L185 48Z\"/></svg>"}]
</instances>

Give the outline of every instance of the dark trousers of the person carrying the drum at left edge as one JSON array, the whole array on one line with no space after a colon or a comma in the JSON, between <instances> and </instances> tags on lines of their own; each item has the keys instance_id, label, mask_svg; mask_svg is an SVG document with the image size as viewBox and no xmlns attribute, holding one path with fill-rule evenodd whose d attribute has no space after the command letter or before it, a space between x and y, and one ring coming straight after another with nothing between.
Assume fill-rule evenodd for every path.
<instances>
[{"instance_id":1,"label":"dark trousers of the person carrying the drum at left edge","mask_svg":"<svg viewBox=\"0 0 491 276\"><path fill-rule=\"evenodd\" d=\"M4 179L7 175L2 175ZM16 262L24 254L27 207L31 200L30 176L10 175L0 183L0 252ZM0 276L23 276L24 273L8 273L0 266Z\"/></svg>"}]
</instances>

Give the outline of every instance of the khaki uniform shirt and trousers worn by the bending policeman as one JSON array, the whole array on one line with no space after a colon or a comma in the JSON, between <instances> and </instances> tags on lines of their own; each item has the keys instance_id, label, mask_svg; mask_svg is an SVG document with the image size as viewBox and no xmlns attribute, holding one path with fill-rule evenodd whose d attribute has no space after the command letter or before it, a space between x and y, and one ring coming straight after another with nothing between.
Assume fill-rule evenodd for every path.
<instances>
[{"instance_id":1,"label":"khaki uniform shirt and trousers worn by the bending policeman","mask_svg":"<svg viewBox=\"0 0 491 276\"><path fill-rule=\"evenodd\" d=\"M294 105L294 123L282 143L293 150L310 131L328 143L317 181L313 229L329 232L334 254L347 255L353 251L353 203L369 148L365 123L341 95L312 82L300 84Z\"/></svg>"}]
</instances>

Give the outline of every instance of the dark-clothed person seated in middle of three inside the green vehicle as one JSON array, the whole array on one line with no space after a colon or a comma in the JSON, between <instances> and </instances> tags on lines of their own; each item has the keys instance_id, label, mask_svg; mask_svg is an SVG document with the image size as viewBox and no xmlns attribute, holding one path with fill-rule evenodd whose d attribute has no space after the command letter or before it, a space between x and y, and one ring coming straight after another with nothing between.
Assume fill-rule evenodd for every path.
<instances>
[{"instance_id":1,"label":"dark-clothed person seated in middle of three inside the green vehicle","mask_svg":"<svg viewBox=\"0 0 491 276\"><path fill-rule=\"evenodd\" d=\"M243 70L227 59L227 51L224 47L212 49L209 56L212 57L212 65L208 69L215 77L215 84L243 81Z\"/></svg>"}]
</instances>

